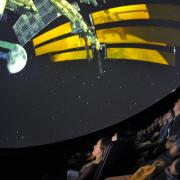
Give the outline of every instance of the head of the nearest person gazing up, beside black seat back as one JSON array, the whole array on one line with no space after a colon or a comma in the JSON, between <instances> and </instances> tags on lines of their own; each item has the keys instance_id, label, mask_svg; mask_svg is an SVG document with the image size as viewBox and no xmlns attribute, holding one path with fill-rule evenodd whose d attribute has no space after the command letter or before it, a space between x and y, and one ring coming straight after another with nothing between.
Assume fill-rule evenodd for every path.
<instances>
[{"instance_id":1,"label":"head of the nearest person gazing up, beside black seat back","mask_svg":"<svg viewBox=\"0 0 180 180\"><path fill-rule=\"evenodd\" d=\"M109 138L101 138L93 147L92 155L96 157L96 160L102 159L107 146L110 144Z\"/></svg>"}]
</instances>

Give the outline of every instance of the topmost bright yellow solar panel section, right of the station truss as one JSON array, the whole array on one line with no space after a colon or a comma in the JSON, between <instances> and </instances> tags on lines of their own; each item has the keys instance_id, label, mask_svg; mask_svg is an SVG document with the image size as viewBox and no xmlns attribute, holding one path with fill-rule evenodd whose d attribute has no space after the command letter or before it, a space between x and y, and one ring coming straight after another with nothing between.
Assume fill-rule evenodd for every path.
<instances>
[{"instance_id":1,"label":"topmost bright yellow solar panel section, right of the station truss","mask_svg":"<svg viewBox=\"0 0 180 180\"><path fill-rule=\"evenodd\" d=\"M132 20L132 19L149 19L149 13L146 4L126 5L107 10L92 13L95 25L108 22Z\"/></svg>"}]
</instances>

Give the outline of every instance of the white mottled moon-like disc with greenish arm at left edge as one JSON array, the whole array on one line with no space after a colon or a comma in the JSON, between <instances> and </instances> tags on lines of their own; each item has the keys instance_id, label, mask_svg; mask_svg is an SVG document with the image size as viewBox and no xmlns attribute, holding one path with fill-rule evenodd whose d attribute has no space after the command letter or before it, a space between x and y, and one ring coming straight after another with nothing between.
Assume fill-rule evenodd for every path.
<instances>
[{"instance_id":1,"label":"white mottled moon-like disc with greenish arm at left edge","mask_svg":"<svg viewBox=\"0 0 180 180\"><path fill-rule=\"evenodd\" d=\"M19 44L0 41L0 48L8 50L8 52L0 53L0 59L7 61L7 69L9 73L14 74L20 72L27 63L27 53Z\"/></svg>"}]
</instances>

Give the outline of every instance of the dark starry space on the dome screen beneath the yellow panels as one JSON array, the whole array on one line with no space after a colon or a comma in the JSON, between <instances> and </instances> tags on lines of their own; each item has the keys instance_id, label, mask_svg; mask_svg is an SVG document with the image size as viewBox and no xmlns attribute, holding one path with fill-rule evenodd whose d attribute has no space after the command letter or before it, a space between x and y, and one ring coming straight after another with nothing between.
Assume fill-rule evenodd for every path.
<instances>
[{"instance_id":1,"label":"dark starry space on the dome screen beneath the yellow panels","mask_svg":"<svg viewBox=\"0 0 180 180\"><path fill-rule=\"evenodd\" d=\"M17 42L8 13L0 39ZM7 23L8 22L8 23ZM180 48L176 66L139 61L51 63L36 59L32 44L27 66L10 75L0 62L0 147L24 147L75 138L135 115L180 84Z\"/></svg>"}]
</instances>

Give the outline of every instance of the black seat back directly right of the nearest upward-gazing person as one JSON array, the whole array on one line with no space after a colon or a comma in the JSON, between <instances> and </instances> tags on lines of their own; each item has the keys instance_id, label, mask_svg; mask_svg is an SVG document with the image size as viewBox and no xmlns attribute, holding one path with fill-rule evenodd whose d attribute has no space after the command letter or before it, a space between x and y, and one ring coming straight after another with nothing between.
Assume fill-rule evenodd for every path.
<instances>
[{"instance_id":1,"label":"black seat back directly right of the nearest upward-gazing person","mask_svg":"<svg viewBox=\"0 0 180 180\"><path fill-rule=\"evenodd\" d=\"M135 163L135 150L132 140L123 139L112 142L106 149L103 161L99 164L93 180L131 173Z\"/></svg>"}]
</instances>

